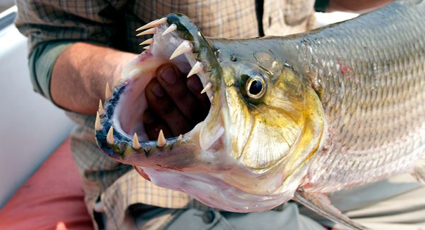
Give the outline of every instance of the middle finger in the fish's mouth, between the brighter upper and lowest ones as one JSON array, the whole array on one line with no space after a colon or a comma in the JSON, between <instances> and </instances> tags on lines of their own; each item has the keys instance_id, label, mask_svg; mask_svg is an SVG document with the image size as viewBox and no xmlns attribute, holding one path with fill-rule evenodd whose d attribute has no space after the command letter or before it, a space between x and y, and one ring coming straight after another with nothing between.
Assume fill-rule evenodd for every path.
<instances>
[{"instance_id":1,"label":"middle finger in the fish's mouth, between the brighter upper and lowest ones","mask_svg":"<svg viewBox=\"0 0 425 230\"><path fill-rule=\"evenodd\" d=\"M190 124L183 114L176 108L174 101L169 98L156 78L146 86L146 100L148 107L157 115L158 120L162 120L173 136L178 136L190 129Z\"/></svg>"}]
</instances>

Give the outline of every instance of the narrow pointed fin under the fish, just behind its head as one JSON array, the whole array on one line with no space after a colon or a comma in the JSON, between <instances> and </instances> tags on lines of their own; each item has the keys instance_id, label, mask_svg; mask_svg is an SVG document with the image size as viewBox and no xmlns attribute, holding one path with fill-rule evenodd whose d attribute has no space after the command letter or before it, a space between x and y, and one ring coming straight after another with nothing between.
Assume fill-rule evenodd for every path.
<instances>
[{"instance_id":1,"label":"narrow pointed fin under the fish, just behind its head","mask_svg":"<svg viewBox=\"0 0 425 230\"><path fill-rule=\"evenodd\" d=\"M372 230L353 222L346 215L342 214L341 211L331 204L325 193L304 193L302 191L296 191L292 199L319 215L346 226L350 230Z\"/></svg>"}]
</instances>

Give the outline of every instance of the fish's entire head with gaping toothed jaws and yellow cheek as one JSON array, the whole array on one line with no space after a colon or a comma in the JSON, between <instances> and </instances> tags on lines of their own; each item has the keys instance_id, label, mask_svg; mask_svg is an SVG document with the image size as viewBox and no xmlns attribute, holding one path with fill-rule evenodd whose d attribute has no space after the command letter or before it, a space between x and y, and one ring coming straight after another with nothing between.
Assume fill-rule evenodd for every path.
<instances>
[{"instance_id":1,"label":"fish's entire head with gaping toothed jaws and yellow cheek","mask_svg":"<svg viewBox=\"0 0 425 230\"><path fill-rule=\"evenodd\" d=\"M263 211L291 199L325 132L306 77L273 49L277 43L267 51L258 40L207 38L180 14L151 25L150 49L124 68L97 117L100 148L211 207ZM211 107L190 132L149 140L144 90L164 63L200 77Z\"/></svg>"}]
</instances>

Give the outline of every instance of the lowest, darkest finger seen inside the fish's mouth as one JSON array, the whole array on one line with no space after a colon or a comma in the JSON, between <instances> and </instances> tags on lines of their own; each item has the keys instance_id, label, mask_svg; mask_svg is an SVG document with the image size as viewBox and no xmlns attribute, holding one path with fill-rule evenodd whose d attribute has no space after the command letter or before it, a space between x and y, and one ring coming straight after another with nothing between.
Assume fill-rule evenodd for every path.
<instances>
[{"instance_id":1,"label":"lowest, darkest finger seen inside the fish's mouth","mask_svg":"<svg viewBox=\"0 0 425 230\"><path fill-rule=\"evenodd\" d=\"M171 131L164 122L161 120L155 119L155 116L150 109L148 108L145 110L145 113L143 113L143 126L145 127L145 132L148 135L150 140L157 140L159 131L162 129L162 132L164 132L165 138L172 137Z\"/></svg>"}]
</instances>

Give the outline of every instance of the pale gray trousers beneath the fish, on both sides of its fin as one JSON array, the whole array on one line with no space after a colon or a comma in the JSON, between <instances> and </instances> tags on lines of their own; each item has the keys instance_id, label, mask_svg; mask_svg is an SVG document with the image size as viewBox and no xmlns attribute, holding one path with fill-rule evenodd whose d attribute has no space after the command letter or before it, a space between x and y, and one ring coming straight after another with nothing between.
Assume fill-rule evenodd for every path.
<instances>
[{"instance_id":1,"label":"pale gray trousers beneath the fish, on both sides of its fin","mask_svg":"<svg viewBox=\"0 0 425 230\"><path fill-rule=\"evenodd\" d=\"M329 194L332 203L376 230L425 230L425 187L410 175L399 175L360 188ZM282 210L234 213L174 210L140 205L129 212L123 229L138 230L325 230L344 229L294 202Z\"/></svg>"}]
</instances>

